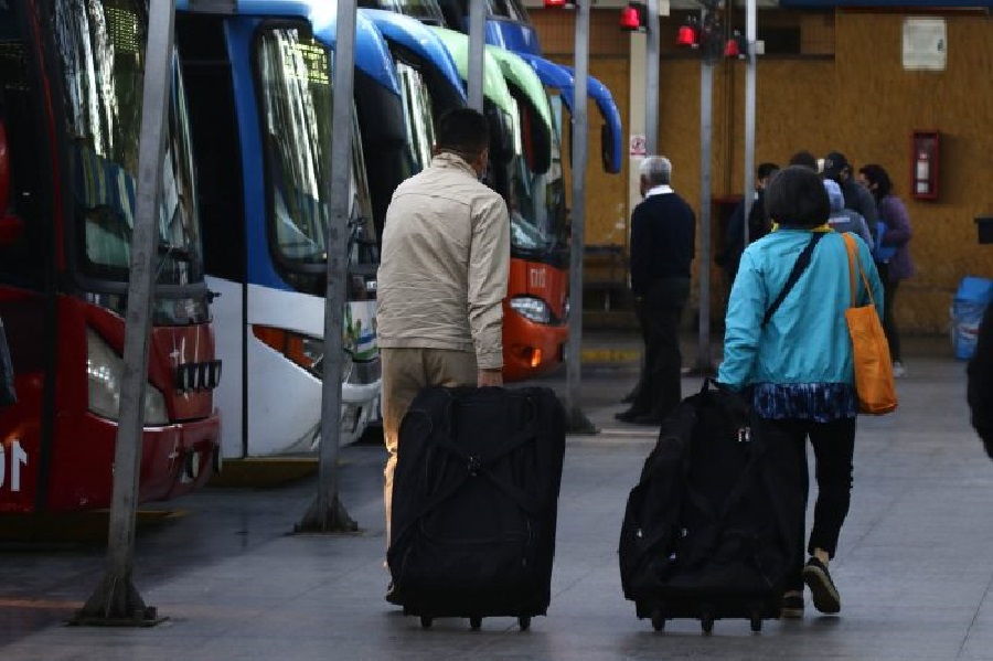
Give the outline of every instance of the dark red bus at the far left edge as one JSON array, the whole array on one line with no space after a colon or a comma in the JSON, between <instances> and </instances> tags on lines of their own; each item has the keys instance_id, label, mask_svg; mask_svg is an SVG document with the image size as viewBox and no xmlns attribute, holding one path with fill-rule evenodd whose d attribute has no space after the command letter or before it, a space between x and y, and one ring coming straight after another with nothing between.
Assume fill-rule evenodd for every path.
<instances>
[{"instance_id":1,"label":"dark red bus at the far left edge","mask_svg":"<svg viewBox=\"0 0 993 661\"><path fill-rule=\"evenodd\" d=\"M0 319L18 395L0 409L0 512L110 503L147 29L147 0L0 2ZM139 501L185 493L218 461L221 365L174 71Z\"/></svg>"}]
</instances>

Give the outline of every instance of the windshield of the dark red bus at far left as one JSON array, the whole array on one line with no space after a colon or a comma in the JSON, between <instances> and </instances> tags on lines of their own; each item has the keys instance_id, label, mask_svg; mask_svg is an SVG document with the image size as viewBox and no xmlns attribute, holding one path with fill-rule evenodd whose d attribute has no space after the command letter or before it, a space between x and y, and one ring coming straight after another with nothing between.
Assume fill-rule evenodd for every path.
<instances>
[{"instance_id":1,"label":"windshield of the dark red bus at far left","mask_svg":"<svg viewBox=\"0 0 993 661\"><path fill-rule=\"evenodd\" d=\"M148 11L138 0L55 0L55 47L73 159L81 269L126 281L135 227ZM160 285L203 281L185 92L173 54L157 218Z\"/></svg>"}]
</instances>

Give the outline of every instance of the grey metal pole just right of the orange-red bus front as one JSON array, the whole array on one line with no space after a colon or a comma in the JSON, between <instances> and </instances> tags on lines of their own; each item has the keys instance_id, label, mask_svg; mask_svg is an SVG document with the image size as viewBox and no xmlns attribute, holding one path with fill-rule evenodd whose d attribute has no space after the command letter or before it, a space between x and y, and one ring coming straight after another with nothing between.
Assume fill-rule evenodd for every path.
<instances>
[{"instance_id":1,"label":"grey metal pole just right of the orange-red bus front","mask_svg":"<svg viewBox=\"0 0 993 661\"><path fill-rule=\"evenodd\" d=\"M573 211L569 262L569 351L566 356L566 408L569 430L594 434L596 428L579 405L583 354L583 248L586 245L586 160L589 116L586 109L589 70L589 3L579 0L576 18L576 88L573 103Z\"/></svg>"}]
</instances>

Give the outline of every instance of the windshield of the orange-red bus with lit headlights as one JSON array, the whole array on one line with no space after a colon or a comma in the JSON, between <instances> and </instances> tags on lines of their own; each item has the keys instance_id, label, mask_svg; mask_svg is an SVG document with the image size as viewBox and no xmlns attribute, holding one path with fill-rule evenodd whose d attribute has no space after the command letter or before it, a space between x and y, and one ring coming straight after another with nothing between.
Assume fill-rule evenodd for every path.
<instances>
[{"instance_id":1,"label":"windshield of the orange-red bus with lit headlights","mask_svg":"<svg viewBox=\"0 0 993 661\"><path fill-rule=\"evenodd\" d=\"M517 105L514 121L516 153L510 166L508 207L511 212L511 245L527 253L547 253L566 245L565 182L557 131L553 132L552 166L546 172L535 172L528 152L534 146L522 138L521 120L533 121L526 104Z\"/></svg>"}]
</instances>

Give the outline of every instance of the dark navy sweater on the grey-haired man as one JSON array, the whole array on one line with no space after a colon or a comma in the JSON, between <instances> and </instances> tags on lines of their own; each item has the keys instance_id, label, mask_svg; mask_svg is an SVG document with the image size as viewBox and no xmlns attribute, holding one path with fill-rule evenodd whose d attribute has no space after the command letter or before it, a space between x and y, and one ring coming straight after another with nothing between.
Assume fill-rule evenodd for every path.
<instances>
[{"instance_id":1,"label":"dark navy sweater on the grey-haired man","mask_svg":"<svg viewBox=\"0 0 993 661\"><path fill-rule=\"evenodd\" d=\"M696 216L675 193L645 198L631 214L631 290L644 296L652 281L688 278Z\"/></svg>"}]
</instances>

